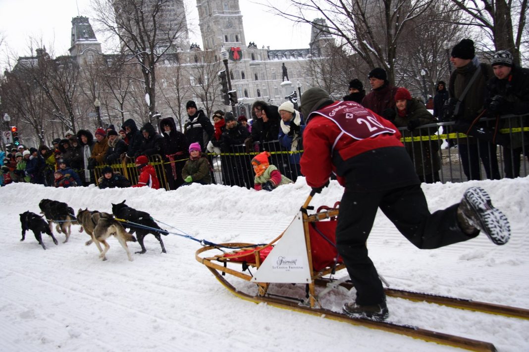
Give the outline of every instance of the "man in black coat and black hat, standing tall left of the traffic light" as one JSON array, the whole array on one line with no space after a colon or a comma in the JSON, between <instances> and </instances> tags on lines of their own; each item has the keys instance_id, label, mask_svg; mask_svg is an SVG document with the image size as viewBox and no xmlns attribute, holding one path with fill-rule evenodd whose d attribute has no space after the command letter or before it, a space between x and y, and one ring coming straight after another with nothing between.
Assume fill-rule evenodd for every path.
<instances>
[{"instance_id":1,"label":"man in black coat and black hat, standing tall left of the traffic light","mask_svg":"<svg viewBox=\"0 0 529 352\"><path fill-rule=\"evenodd\" d=\"M184 125L184 134L189 144L197 142L202 151L206 151L206 145L215 129L204 111L198 110L197 104L193 100L186 103L188 119Z\"/></svg>"}]
</instances>

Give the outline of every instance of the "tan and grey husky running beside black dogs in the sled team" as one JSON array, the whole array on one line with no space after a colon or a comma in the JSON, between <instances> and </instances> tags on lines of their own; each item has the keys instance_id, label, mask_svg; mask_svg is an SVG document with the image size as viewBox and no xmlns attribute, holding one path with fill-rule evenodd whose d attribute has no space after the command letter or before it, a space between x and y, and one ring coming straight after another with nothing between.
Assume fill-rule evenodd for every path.
<instances>
[{"instance_id":1,"label":"tan and grey husky running beside black dogs in the sled team","mask_svg":"<svg viewBox=\"0 0 529 352\"><path fill-rule=\"evenodd\" d=\"M96 244L102 243L105 246L105 249L99 254L99 258L106 260L105 254L108 249L110 249L110 245L106 243L106 239L113 235L120 242L123 249L127 252L129 260L132 261L133 259L131 252L129 251L129 247L127 246L127 241L136 242L136 237L126 232L120 222L115 220L112 215L108 213L98 213L96 216L99 217L99 220L94 227L92 238Z\"/></svg>"}]
</instances>

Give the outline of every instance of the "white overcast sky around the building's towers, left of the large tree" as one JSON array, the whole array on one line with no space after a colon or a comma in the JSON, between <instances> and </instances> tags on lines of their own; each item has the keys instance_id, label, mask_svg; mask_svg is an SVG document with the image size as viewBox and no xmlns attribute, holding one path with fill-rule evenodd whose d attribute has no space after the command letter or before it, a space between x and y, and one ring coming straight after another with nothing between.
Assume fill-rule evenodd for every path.
<instances>
[{"instance_id":1,"label":"white overcast sky around the building's towers, left of the large tree","mask_svg":"<svg viewBox=\"0 0 529 352\"><path fill-rule=\"evenodd\" d=\"M273 0L272 2L278 2ZM190 42L202 45L198 31L198 13L195 0L184 0L190 15ZM311 28L266 12L266 7L249 0L240 0L246 41L270 49L298 49L308 47ZM282 1L282 4L285 4ZM0 0L0 68L6 68L7 55L30 55L28 38L42 39L47 50L54 48L56 55L66 54L70 47L71 18L81 15L93 17L90 0ZM90 21L93 23L92 21ZM101 41L102 35L96 36Z\"/></svg>"}]
</instances>

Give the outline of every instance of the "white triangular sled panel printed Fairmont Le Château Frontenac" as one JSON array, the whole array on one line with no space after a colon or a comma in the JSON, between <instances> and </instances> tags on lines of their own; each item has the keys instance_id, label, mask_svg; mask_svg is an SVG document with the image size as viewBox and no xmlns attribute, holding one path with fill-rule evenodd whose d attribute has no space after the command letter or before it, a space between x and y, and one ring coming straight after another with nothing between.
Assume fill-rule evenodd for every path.
<instances>
[{"instance_id":1,"label":"white triangular sled panel printed Fairmont Le Ch\u00e2teau Frontenac","mask_svg":"<svg viewBox=\"0 0 529 352\"><path fill-rule=\"evenodd\" d=\"M288 225L281 239L253 275L252 281L311 282L301 212Z\"/></svg>"}]
</instances>

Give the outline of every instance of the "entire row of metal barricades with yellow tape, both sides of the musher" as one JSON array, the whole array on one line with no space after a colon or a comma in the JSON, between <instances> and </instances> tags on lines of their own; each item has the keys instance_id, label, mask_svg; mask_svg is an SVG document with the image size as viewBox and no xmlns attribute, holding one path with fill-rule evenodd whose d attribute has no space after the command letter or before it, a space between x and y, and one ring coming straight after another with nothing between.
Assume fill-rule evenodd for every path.
<instances>
[{"instance_id":1,"label":"entire row of metal barricades with yellow tape, both sides of the musher","mask_svg":"<svg viewBox=\"0 0 529 352\"><path fill-rule=\"evenodd\" d=\"M481 119L496 121L496 119ZM454 131L454 122L431 123L417 127L414 131L399 128L402 142L410 154L416 172L422 182L465 182L468 179L504 178L527 176L529 174L529 115L506 115L500 118L501 132L510 141L511 146L492 144L479 138L469 137ZM444 129L444 131L443 131ZM452 140L458 147L446 147ZM275 165L281 175L294 182L302 176L299 169L299 158L303 150L289 151L282 147L278 140L256 142L254 150L266 150L270 153L269 162ZM212 170L212 182L226 186L253 188L254 173L251 160L258 151L247 152L244 144L230 147L230 153L209 153L207 158ZM463 152L465 150L467 153ZM478 155L478 160L470 153ZM185 161L187 159L172 162ZM486 160L484 164L484 160ZM478 165L478 168L469 166ZM154 166L160 180L160 187L169 189L168 175L162 156L153 155L149 164ZM496 166L497 165L497 166ZM105 165L98 165L95 170L96 185L99 184L101 170ZM139 170L133 160L125 158L120 164L110 165L114 172L120 172L132 184L138 183ZM497 172L497 174L496 174ZM172 177L172 175L169 175Z\"/></svg>"}]
</instances>

